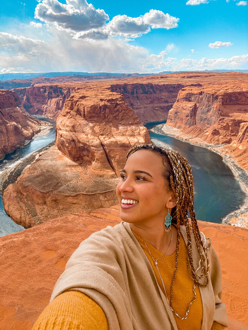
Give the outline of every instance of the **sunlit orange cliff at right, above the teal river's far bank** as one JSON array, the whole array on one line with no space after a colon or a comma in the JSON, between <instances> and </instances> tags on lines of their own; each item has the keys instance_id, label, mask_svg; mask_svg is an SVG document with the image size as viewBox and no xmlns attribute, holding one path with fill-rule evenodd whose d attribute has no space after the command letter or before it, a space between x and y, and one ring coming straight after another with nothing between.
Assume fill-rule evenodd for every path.
<instances>
[{"instance_id":1,"label":"sunlit orange cliff at right, above the teal river's far bank","mask_svg":"<svg viewBox=\"0 0 248 330\"><path fill-rule=\"evenodd\" d=\"M248 122L248 88L221 91L185 87L180 90L166 125L195 134L211 144L230 144L237 139L242 123ZM241 136L239 137L241 139Z\"/></svg>"}]
</instances>

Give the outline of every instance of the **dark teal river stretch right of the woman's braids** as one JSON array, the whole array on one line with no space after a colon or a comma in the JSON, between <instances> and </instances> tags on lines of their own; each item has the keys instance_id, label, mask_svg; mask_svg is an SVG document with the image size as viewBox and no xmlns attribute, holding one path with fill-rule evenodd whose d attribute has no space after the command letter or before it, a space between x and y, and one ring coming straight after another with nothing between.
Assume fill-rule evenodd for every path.
<instances>
[{"instance_id":1,"label":"dark teal river stretch right of the woman's braids","mask_svg":"<svg viewBox=\"0 0 248 330\"><path fill-rule=\"evenodd\" d=\"M145 125L150 129L154 122ZM159 140L186 157L192 167L194 205L199 220L222 223L222 218L244 204L246 193L230 168L216 152L191 145L173 137L149 131L150 138Z\"/></svg>"}]
</instances>

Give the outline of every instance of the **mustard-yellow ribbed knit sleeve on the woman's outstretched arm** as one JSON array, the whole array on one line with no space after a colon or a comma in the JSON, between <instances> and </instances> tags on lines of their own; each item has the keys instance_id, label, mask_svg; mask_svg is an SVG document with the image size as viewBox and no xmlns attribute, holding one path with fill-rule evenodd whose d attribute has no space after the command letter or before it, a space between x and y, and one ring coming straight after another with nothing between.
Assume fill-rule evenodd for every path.
<instances>
[{"instance_id":1,"label":"mustard-yellow ribbed knit sleeve on the woman's outstretched arm","mask_svg":"<svg viewBox=\"0 0 248 330\"><path fill-rule=\"evenodd\" d=\"M65 291L40 314L32 330L107 330L102 308L79 291Z\"/></svg>"}]
</instances>

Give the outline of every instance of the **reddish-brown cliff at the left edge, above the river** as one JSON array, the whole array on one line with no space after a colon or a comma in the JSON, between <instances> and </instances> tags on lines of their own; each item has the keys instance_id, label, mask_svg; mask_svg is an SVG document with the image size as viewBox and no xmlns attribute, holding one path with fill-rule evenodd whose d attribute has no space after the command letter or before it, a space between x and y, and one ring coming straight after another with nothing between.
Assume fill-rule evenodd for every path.
<instances>
[{"instance_id":1,"label":"reddish-brown cliff at the left edge, above the river","mask_svg":"<svg viewBox=\"0 0 248 330\"><path fill-rule=\"evenodd\" d=\"M0 159L22 147L46 123L30 116L14 91L0 89Z\"/></svg>"}]
</instances>

